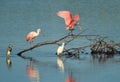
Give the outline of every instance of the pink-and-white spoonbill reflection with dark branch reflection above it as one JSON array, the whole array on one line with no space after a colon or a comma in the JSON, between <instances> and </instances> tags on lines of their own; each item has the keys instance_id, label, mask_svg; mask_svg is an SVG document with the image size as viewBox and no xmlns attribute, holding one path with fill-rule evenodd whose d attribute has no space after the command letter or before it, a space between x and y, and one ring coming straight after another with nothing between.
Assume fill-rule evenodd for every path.
<instances>
[{"instance_id":1,"label":"pink-and-white spoonbill reflection with dark branch reflection above it","mask_svg":"<svg viewBox=\"0 0 120 82\"><path fill-rule=\"evenodd\" d=\"M40 72L37 67L39 61L33 59L32 57L20 56L23 59L27 59L28 64L26 65L26 72L31 82L40 82Z\"/></svg>"}]
</instances>

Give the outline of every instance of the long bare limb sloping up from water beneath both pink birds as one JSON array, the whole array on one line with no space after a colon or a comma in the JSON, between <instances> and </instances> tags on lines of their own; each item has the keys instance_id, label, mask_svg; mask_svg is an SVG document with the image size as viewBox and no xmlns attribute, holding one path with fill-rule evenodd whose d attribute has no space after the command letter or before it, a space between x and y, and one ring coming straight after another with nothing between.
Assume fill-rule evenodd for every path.
<instances>
[{"instance_id":1,"label":"long bare limb sloping up from water beneath both pink birds","mask_svg":"<svg viewBox=\"0 0 120 82\"><path fill-rule=\"evenodd\" d=\"M74 39L79 38L79 37L98 36L98 35L81 35L81 34L82 34L84 31L86 31L86 30L87 30L87 29L83 30L82 32L80 32L80 33L78 33L78 34L72 34L72 33L70 32L70 33L68 33L67 35L65 35L64 37L62 37L62 38L60 38L60 39L57 39L57 40L44 41L44 42L37 43L37 44L33 45L33 46L30 47L30 48L27 48L27 49L24 49L24 50L20 51L17 55L22 55L22 53L24 53L24 52L33 50L33 49L35 49L35 48L37 48L37 47L44 46L44 45L50 45L50 44L60 45L60 42L63 41L63 40L66 40L65 45L67 45L68 43L70 43L71 41L73 41Z\"/></svg>"}]
</instances>

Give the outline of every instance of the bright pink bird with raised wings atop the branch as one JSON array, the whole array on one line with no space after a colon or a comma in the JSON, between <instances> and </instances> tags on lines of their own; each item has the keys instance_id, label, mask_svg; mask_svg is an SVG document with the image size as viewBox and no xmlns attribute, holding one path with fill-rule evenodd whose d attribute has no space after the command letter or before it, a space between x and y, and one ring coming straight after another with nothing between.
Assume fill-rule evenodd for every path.
<instances>
[{"instance_id":1,"label":"bright pink bird with raised wings atop the branch","mask_svg":"<svg viewBox=\"0 0 120 82\"><path fill-rule=\"evenodd\" d=\"M77 20L80 20L79 14L76 14L75 16L72 17L70 11L58 11L57 15L60 16L61 18L64 18L67 30L72 31L74 29L74 26L76 25L80 27L80 24L76 23Z\"/></svg>"}]
</instances>

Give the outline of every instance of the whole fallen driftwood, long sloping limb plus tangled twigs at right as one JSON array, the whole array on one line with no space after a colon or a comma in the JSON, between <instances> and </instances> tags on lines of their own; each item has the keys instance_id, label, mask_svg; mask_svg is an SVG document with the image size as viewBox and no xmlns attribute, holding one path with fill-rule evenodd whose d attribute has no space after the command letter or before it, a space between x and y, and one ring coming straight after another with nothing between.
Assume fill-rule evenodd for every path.
<instances>
[{"instance_id":1,"label":"whole fallen driftwood, long sloping limb plus tangled twigs at right","mask_svg":"<svg viewBox=\"0 0 120 82\"><path fill-rule=\"evenodd\" d=\"M27 51L30 51L30 50L33 50L35 48L45 46L45 45L50 45L50 44L60 45L63 40L65 41L65 45L67 45L70 42L72 42L73 40L78 39L80 37L86 37L86 39L89 40L89 41L92 41L93 44L82 46L82 47L80 46L80 47L77 47L77 48L65 49L63 54L65 54L67 56L75 56L75 57L77 56L77 57L79 57L80 51L82 49L85 49L85 48L88 48L88 47L90 47L90 49L91 49L91 54L110 54L111 52L108 52L108 51L111 51L111 49L113 49L111 54L115 54L115 53L119 52L119 50L117 50L115 48L115 46L120 47L120 43L115 43L115 42L110 43L109 41L105 40L106 37L101 37L100 35L83 35L82 33L86 30L83 30L82 32L80 32L78 34L68 33L64 37L62 37L60 39L57 39L57 40L44 41L44 42L37 43L30 48L27 48L27 49L24 49L24 50L20 51L17 55L20 56L24 52L27 52ZM88 38L88 37L94 37L94 38L91 39L91 38Z\"/></svg>"}]
</instances>

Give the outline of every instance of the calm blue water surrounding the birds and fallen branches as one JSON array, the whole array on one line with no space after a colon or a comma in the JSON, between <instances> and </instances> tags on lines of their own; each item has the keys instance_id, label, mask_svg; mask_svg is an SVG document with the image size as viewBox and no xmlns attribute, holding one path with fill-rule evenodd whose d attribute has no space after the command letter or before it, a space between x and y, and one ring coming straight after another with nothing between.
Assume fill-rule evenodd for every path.
<instances>
[{"instance_id":1,"label":"calm blue water surrounding the birds and fallen branches","mask_svg":"<svg viewBox=\"0 0 120 82\"><path fill-rule=\"evenodd\" d=\"M93 59L82 54L80 60L60 59L55 55L57 45L26 52L24 58L16 55L30 46L25 37L32 30L43 30L34 43L56 40L68 33L64 20L56 15L59 10L79 13L81 26L89 28L83 34L99 34L119 42L119 4L119 0L0 0L0 82L65 82L70 76L75 82L119 82L119 56ZM79 31L76 28L75 32ZM89 44L80 39L66 48ZM7 58L9 44L13 51Z\"/></svg>"}]
</instances>

